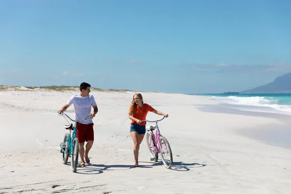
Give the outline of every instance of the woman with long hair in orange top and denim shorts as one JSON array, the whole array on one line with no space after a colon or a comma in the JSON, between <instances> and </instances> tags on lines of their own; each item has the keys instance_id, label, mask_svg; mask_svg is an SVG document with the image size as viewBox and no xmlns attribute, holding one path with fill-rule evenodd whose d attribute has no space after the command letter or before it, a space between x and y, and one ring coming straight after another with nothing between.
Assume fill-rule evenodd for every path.
<instances>
[{"instance_id":1,"label":"woman with long hair in orange top and denim shorts","mask_svg":"<svg viewBox=\"0 0 291 194\"><path fill-rule=\"evenodd\" d=\"M129 119L131 120L130 136L134 144L134 167L138 167L138 151L146 133L146 121L141 121L146 120L146 114L149 111L168 117L168 114L157 111L150 105L144 103L143 97L140 93L135 94L129 108Z\"/></svg>"}]
</instances>

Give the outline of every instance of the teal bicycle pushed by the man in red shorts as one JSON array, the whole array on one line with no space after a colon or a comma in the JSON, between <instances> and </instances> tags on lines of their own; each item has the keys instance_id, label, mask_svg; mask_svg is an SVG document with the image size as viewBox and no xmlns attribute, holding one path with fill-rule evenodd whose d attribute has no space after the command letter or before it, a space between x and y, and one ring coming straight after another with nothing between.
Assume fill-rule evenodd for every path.
<instances>
[{"instance_id":1,"label":"teal bicycle pushed by the man in red shorts","mask_svg":"<svg viewBox=\"0 0 291 194\"><path fill-rule=\"evenodd\" d=\"M62 161L63 164L67 164L69 157L72 158L71 161L71 168L73 172L76 172L77 166L78 166L78 159L79 159L79 139L77 137L77 122L82 123L84 120L88 118L92 118L91 115L88 115L81 121L76 121L71 119L67 114L64 112L61 112L59 114L61 116L64 116L65 120L66 118L70 119L71 121L75 122L75 127L73 127L73 124L65 125L65 129L69 130L69 133L65 133L63 142L60 144L60 151L62 153Z\"/></svg>"}]
</instances>

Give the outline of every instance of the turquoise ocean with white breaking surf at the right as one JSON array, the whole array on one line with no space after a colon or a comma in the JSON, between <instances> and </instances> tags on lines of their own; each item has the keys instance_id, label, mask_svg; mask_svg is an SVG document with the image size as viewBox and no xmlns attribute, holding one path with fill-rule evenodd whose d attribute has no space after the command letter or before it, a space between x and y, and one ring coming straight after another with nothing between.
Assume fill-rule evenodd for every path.
<instances>
[{"instance_id":1,"label":"turquoise ocean with white breaking surf at the right","mask_svg":"<svg viewBox=\"0 0 291 194\"><path fill-rule=\"evenodd\" d=\"M193 94L197 95L197 94ZM199 94L242 111L291 114L291 94ZM265 108L263 108L265 107Z\"/></svg>"}]
</instances>

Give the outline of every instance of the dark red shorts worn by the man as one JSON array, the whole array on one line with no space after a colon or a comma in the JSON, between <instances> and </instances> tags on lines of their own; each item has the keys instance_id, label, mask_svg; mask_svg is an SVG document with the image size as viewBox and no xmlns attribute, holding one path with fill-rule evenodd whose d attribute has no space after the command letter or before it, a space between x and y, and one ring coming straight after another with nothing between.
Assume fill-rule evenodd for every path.
<instances>
[{"instance_id":1,"label":"dark red shorts worn by the man","mask_svg":"<svg viewBox=\"0 0 291 194\"><path fill-rule=\"evenodd\" d=\"M84 143L85 141L94 141L94 130L93 123L90 124L82 124L77 122L77 137L79 139L79 143Z\"/></svg>"}]
</instances>

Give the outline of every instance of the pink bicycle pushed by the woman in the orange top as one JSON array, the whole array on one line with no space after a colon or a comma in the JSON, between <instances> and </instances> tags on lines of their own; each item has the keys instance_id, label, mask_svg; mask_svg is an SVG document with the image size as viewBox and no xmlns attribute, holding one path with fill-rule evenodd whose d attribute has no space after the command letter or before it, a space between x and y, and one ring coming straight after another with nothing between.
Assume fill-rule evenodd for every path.
<instances>
[{"instance_id":1,"label":"pink bicycle pushed by the woman in the orange top","mask_svg":"<svg viewBox=\"0 0 291 194\"><path fill-rule=\"evenodd\" d=\"M151 125L146 127L146 130L148 131L148 133L146 133L146 143L149 154L151 156L150 160L158 162L160 152L163 164L166 168L171 169L173 165L172 150L168 140L161 135L160 129L158 127L158 122L162 121L164 118L165 116L161 120L156 121L144 120L149 123L156 123L155 126ZM153 132L155 129L157 129L156 134Z\"/></svg>"}]
</instances>

